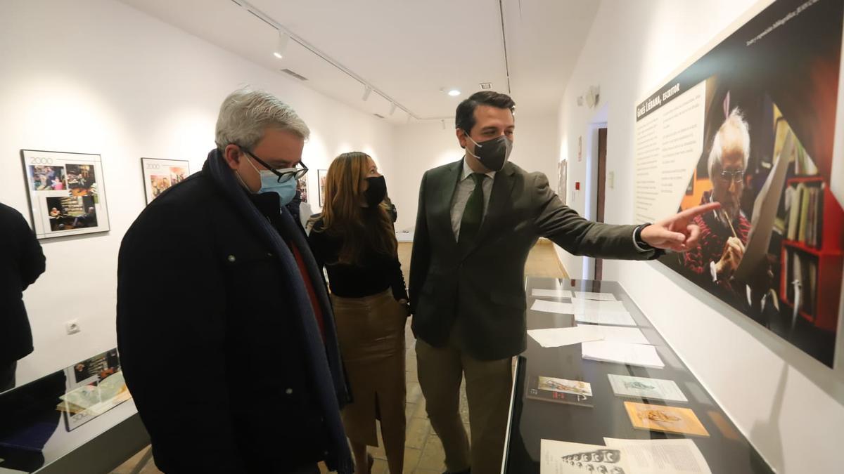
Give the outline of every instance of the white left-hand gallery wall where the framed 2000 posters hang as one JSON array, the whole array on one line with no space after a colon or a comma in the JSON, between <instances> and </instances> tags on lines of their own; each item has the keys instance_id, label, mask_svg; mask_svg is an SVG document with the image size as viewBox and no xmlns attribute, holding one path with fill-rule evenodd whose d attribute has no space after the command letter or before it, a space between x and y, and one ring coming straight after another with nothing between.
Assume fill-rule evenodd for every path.
<instances>
[{"instance_id":1,"label":"white left-hand gallery wall where the framed 2000 posters hang","mask_svg":"<svg viewBox=\"0 0 844 474\"><path fill-rule=\"evenodd\" d=\"M246 83L288 101L311 127L304 161L315 211L317 169L334 156L394 155L393 126L122 3L0 3L0 202L30 219L20 148L101 154L111 219L108 234L41 240L47 270L24 294L35 353L20 361L19 384L115 347L117 250L145 205L140 159L187 159L199 170L219 104ZM68 336L68 320L82 331Z\"/></svg>"}]
</instances>

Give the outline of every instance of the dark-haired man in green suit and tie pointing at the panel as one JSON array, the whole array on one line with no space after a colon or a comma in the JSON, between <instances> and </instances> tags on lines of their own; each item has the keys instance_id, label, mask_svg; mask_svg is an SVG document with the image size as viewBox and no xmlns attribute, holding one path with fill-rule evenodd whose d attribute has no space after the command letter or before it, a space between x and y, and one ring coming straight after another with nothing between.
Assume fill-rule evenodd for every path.
<instances>
[{"instance_id":1,"label":"dark-haired man in green suit and tie pointing at the panel","mask_svg":"<svg viewBox=\"0 0 844 474\"><path fill-rule=\"evenodd\" d=\"M515 103L484 91L457 106L466 154L419 188L410 301L419 385L448 473L500 472L512 384L526 347L524 267L539 237L575 255L649 260L696 245L695 207L656 224L599 224L566 207L542 173L509 163ZM466 378L472 443L459 413Z\"/></svg>"}]
</instances>

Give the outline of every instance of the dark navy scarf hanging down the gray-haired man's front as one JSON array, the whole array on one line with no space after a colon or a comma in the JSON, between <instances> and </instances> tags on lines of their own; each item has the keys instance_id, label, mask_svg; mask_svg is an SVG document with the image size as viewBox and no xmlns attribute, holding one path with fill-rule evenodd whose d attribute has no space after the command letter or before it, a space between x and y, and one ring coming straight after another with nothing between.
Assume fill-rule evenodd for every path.
<instances>
[{"instance_id":1,"label":"dark navy scarf hanging down the gray-haired man's front","mask_svg":"<svg viewBox=\"0 0 844 474\"><path fill-rule=\"evenodd\" d=\"M277 256L282 274L289 277L290 299L284 302L289 311L285 313L299 318L297 326L300 329L306 352L304 362L311 369L314 387L317 390L317 401L322 407L322 414L330 436L326 465L328 469L338 471L339 474L351 474L353 471L352 457L349 452L349 444L346 442L343 422L340 419L340 405L349 400L349 394L346 391L346 382L340 361L337 330L334 327L331 300L328 299L325 286L319 284L323 281L322 273L309 250L306 236L297 227L298 224L295 223L289 211L281 207L283 229L280 230L284 234L284 238L299 249L302 260L307 267L308 276L311 277L313 289L317 294L317 299L319 299L324 319L324 343L305 282L300 277L299 266L287 243L246 195L243 186L235 178L234 173L217 149L208 154L208 170L211 177L225 191L226 196L235 204L252 230L273 250L273 255ZM289 427L288 429L296 428Z\"/></svg>"}]
</instances>

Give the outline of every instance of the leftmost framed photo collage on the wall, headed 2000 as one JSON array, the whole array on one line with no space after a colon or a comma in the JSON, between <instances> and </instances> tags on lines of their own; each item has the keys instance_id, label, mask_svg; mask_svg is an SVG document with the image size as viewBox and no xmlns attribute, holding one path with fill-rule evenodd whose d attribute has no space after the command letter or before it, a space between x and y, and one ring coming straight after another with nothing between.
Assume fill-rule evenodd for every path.
<instances>
[{"instance_id":1,"label":"leftmost framed photo collage on the wall, headed 2000","mask_svg":"<svg viewBox=\"0 0 844 474\"><path fill-rule=\"evenodd\" d=\"M110 229L99 154L20 150L20 157L39 239Z\"/></svg>"}]
</instances>

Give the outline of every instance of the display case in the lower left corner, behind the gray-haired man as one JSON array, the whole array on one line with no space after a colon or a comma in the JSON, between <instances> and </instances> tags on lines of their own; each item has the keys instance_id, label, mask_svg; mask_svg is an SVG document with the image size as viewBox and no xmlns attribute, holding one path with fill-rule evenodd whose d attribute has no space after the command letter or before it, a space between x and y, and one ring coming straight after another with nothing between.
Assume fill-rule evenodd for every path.
<instances>
[{"instance_id":1,"label":"display case in the lower left corner, behind the gray-haired man","mask_svg":"<svg viewBox=\"0 0 844 474\"><path fill-rule=\"evenodd\" d=\"M108 472L149 444L116 349L0 394L0 474Z\"/></svg>"}]
</instances>

